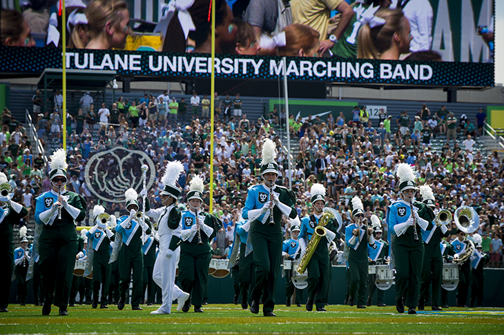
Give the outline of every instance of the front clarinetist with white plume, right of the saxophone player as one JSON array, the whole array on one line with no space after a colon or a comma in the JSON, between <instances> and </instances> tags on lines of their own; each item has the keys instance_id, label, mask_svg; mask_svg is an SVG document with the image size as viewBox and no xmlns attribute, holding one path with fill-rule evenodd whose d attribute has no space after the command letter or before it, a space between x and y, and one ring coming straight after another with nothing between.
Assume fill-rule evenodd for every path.
<instances>
[{"instance_id":1,"label":"front clarinetist with white plume, right of the saxophone player","mask_svg":"<svg viewBox=\"0 0 504 335\"><path fill-rule=\"evenodd\" d=\"M421 203L413 205L416 187L411 166L400 163L396 174L399 177L401 198L389 205L387 211L391 241L389 254L391 266L396 267L396 309L399 313L405 312L403 296L407 291L408 314L416 314L424 253L421 230L432 229L432 223L418 214L420 210L429 210L428 207Z\"/></svg>"}]
</instances>

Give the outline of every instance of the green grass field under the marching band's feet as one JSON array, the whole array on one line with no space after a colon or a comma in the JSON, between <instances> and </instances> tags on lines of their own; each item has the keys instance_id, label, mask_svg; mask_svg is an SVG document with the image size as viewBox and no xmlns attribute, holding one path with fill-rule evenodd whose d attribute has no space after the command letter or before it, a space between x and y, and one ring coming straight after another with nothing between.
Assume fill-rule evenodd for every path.
<instances>
[{"instance_id":1,"label":"green grass field under the marching band's feet","mask_svg":"<svg viewBox=\"0 0 504 335\"><path fill-rule=\"evenodd\" d=\"M0 334L504 334L504 309L481 308L398 314L395 306L328 306L328 312L307 312L303 307L275 307L276 317L265 318L242 310L240 305L208 305L204 313L173 312L153 316L157 307L119 311L71 307L59 316L52 307L42 316L41 307L9 305L0 314ZM176 305L173 306L173 310Z\"/></svg>"}]
</instances>

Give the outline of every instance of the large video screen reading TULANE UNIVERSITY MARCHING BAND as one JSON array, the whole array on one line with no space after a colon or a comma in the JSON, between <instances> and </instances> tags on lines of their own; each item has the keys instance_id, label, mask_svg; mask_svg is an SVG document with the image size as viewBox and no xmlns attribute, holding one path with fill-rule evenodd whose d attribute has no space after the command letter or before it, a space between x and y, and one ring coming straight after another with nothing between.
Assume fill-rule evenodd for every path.
<instances>
[{"instance_id":1,"label":"large video screen reading TULANE UNIVERSITY MARCHING BAND","mask_svg":"<svg viewBox=\"0 0 504 335\"><path fill-rule=\"evenodd\" d=\"M2 1L1 72L61 68L66 29L67 68L208 77L215 6L216 77L494 84L493 0L67 0L65 19L23 3Z\"/></svg>"}]
</instances>

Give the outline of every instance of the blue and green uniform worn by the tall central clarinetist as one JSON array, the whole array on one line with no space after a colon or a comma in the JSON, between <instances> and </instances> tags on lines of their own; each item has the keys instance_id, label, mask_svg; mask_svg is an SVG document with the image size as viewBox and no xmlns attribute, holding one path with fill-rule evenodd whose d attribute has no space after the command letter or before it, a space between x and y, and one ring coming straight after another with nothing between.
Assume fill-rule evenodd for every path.
<instances>
[{"instance_id":1,"label":"blue and green uniform worn by the tall central clarinetist","mask_svg":"<svg viewBox=\"0 0 504 335\"><path fill-rule=\"evenodd\" d=\"M266 165L263 165L266 166ZM273 221L275 225L271 226L269 221L269 210L255 219L251 223L249 234L253 246L255 267L255 285L252 290L252 300L259 302L262 298L264 303L263 313L272 312L275 307L275 291L277 286L278 271L280 269L280 260L282 258L283 233L282 214L290 219L295 219L298 213L294 209L295 196L291 190L275 185L273 192L277 194L278 201L286 210L283 212L278 205L273 207ZM243 208L243 219L249 218L251 210L260 210L269 201L269 187L264 185L255 185L249 187L245 205ZM288 211L288 212L287 212Z\"/></svg>"}]
</instances>

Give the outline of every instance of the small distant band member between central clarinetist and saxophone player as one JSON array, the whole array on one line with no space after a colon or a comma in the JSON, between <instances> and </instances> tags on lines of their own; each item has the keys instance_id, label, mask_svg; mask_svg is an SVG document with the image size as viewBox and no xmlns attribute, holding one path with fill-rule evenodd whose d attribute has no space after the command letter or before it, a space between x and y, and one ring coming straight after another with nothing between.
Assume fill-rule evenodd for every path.
<instances>
[{"instance_id":1,"label":"small distant band member between central clarinetist and saxophone player","mask_svg":"<svg viewBox=\"0 0 504 335\"><path fill-rule=\"evenodd\" d=\"M284 256L284 259L287 259L289 261L294 261L295 259L299 259L299 256L300 256L298 236L299 236L299 232L301 230L300 230L299 224L300 224L300 221L297 216L295 219L291 220L291 238L287 238L287 240L284 241L284 244L282 246L282 256ZM285 301L285 305L287 305L287 307L289 307L291 305L291 297L295 292L295 304L298 307L301 307L302 300L303 300L303 298L302 298L303 290L298 289L292 283L292 281L291 281L292 271L293 271L293 269L289 270L285 276L285 280L286 280L285 295L287 296L287 300Z\"/></svg>"}]
</instances>

